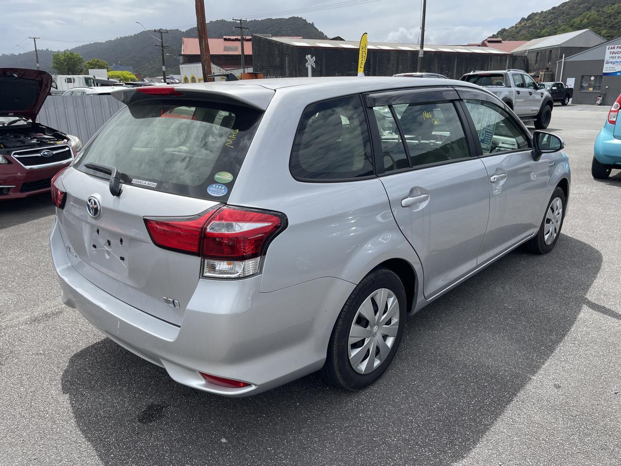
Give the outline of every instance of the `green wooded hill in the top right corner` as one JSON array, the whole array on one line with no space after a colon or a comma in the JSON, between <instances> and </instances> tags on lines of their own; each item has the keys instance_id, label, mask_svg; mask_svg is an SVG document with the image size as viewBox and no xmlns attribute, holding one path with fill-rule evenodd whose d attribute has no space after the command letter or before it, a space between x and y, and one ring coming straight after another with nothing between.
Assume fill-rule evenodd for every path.
<instances>
[{"instance_id":1,"label":"green wooded hill in the top right corner","mask_svg":"<svg viewBox=\"0 0 621 466\"><path fill-rule=\"evenodd\" d=\"M606 40L621 36L621 1L569 0L549 10L531 13L492 37L531 40L580 29L591 29Z\"/></svg>"}]
</instances>

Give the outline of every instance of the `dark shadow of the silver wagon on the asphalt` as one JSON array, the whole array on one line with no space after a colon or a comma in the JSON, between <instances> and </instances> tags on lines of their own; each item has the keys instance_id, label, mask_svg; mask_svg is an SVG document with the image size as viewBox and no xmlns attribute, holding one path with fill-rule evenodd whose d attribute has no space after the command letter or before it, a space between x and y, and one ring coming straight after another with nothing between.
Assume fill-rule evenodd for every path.
<instances>
[{"instance_id":1,"label":"dark shadow of the silver wagon on the asphalt","mask_svg":"<svg viewBox=\"0 0 621 466\"><path fill-rule=\"evenodd\" d=\"M517 250L407 321L391 368L350 393L312 374L250 398L178 385L109 339L62 375L104 465L449 465L463 459L563 341L602 265L562 235ZM550 390L560 380L550 380Z\"/></svg>"}]
</instances>

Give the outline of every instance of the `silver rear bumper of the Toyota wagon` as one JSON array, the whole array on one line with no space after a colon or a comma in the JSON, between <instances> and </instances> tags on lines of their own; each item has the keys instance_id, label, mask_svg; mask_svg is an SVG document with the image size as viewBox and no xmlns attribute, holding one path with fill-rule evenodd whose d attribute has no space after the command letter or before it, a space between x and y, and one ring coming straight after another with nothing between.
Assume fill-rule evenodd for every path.
<instances>
[{"instance_id":1,"label":"silver rear bumper of the Toyota wagon","mask_svg":"<svg viewBox=\"0 0 621 466\"><path fill-rule=\"evenodd\" d=\"M50 232L63 303L134 354L199 390L248 396L319 370L332 327L355 287L319 278L260 293L261 276L200 280L180 327L97 288L70 265L58 221ZM245 381L245 388L206 383L199 372Z\"/></svg>"}]
</instances>

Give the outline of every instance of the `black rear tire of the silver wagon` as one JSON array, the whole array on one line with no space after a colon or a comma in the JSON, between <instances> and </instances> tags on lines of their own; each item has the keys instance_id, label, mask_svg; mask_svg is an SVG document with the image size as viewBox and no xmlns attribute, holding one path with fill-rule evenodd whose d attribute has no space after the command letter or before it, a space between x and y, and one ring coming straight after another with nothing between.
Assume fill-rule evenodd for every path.
<instances>
[{"instance_id":1,"label":"black rear tire of the silver wagon","mask_svg":"<svg viewBox=\"0 0 621 466\"><path fill-rule=\"evenodd\" d=\"M358 309L360 309L363 302L369 298L374 291L380 290L381 288L390 290L399 304L399 326L397 328L397 334L388 352L388 357L381 361L379 366L374 368L371 372L367 374L358 373L354 370L349 360L348 346L351 326L354 324L354 319L358 316ZM387 307L388 306L386 306L386 308ZM374 306L374 309L375 308L377 308L377 305ZM379 309L377 309L375 315L377 316L378 313ZM360 316L358 316L358 319L360 319ZM401 280L399 280L399 276L384 267L371 270L371 272L358 283L356 288L354 288L343 306L341 313L338 314L337 322L332 329L332 336L330 336L324 368L322 369L322 375L325 380L337 388L351 391L362 390L371 385L371 383L378 380L392 362L399 348L399 344L401 343L405 324L406 291L403 288ZM371 328L370 322L368 322L368 327ZM375 347L373 347L373 349L375 349ZM377 351L379 353L379 349ZM368 353L369 350L367 349L366 352ZM369 357L370 354L366 360L368 360ZM363 360L365 360L364 357ZM375 355L373 356L373 362L374 360Z\"/></svg>"}]
</instances>

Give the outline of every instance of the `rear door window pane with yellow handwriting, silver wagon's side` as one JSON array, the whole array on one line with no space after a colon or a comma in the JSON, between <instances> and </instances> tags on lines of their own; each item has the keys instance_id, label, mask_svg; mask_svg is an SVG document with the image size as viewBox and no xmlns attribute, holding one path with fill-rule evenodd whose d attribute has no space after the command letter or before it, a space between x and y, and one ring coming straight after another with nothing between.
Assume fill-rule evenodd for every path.
<instances>
[{"instance_id":1,"label":"rear door window pane with yellow handwriting, silver wagon's side","mask_svg":"<svg viewBox=\"0 0 621 466\"><path fill-rule=\"evenodd\" d=\"M470 157L466 135L452 103L398 104L394 112L412 167Z\"/></svg>"}]
</instances>

